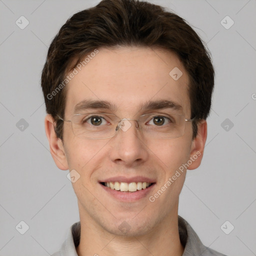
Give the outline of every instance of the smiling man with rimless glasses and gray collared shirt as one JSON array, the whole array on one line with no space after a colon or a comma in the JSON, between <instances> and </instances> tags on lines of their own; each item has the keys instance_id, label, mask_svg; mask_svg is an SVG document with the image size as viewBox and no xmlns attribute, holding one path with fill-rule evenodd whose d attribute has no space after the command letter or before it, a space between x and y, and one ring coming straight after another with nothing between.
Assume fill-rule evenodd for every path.
<instances>
[{"instance_id":1,"label":"smiling man with rimless glasses and gray collared shirt","mask_svg":"<svg viewBox=\"0 0 256 256\"><path fill-rule=\"evenodd\" d=\"M198 35L158 5L103 0L66 21L41 86L80 222L55 256L223 255L177 212L186 169L202 159L213 84Z\"/></svg>"}]
</instances>

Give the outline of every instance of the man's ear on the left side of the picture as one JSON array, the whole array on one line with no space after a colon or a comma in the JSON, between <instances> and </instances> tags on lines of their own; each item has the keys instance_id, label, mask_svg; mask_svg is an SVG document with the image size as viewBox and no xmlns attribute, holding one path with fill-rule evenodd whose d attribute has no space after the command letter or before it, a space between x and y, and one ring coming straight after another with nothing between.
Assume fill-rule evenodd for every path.
<instances>
[{"instance_id":1,"label":"man's ear on the left side of the picture","mask_svg":"<svg viewBox=\"0 0 256 256\"><path fill-rule=\"evenodd\" d=\"M66 155L63 147L62 140L56 136L54 130L54 120L50 114L47 114L44 119L44 127L46 136L49 141L51 156L61 170L67 170L68 164L66 160Z\"/></svg>"}]
</instances>

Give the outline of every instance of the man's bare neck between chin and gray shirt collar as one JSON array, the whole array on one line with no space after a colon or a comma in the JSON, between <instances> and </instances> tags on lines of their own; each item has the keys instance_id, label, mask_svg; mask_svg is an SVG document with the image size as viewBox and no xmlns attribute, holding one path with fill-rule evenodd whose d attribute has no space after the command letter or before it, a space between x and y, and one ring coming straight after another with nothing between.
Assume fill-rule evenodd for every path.
<instances>
[{"instance_id":1,"label":"man's bare neck between chin and gray shirt collar","mask_svg":"<svg viewBox=\"0 0 256 256\"><path fill-rule=\"evenodd\" d=\"M104 230L92 218L80 216L80 243L78 256L181 256L177 214L167 216L157 227L140 236L120 236Z\"/></svg>"}]
</instances>

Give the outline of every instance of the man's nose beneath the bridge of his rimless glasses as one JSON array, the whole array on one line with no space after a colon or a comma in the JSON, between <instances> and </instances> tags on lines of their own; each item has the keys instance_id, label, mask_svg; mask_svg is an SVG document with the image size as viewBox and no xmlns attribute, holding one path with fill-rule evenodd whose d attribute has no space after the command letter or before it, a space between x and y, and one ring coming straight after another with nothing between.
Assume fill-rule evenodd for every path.
<instances>
[{"instance_id":1,"label":"man's nose beneath the bridge of his rimless glasses","mask_svg":"<svg viewBox=\"0 0 256 256\"><path fill-rule=\"evenodd\" d=\"M142 139L143 135L139 132L138 120L121 119L116 126L116 134L111 139L111 161L129 167L135 167L146 161L148 151Z\"/></svg>"}]
</instances>

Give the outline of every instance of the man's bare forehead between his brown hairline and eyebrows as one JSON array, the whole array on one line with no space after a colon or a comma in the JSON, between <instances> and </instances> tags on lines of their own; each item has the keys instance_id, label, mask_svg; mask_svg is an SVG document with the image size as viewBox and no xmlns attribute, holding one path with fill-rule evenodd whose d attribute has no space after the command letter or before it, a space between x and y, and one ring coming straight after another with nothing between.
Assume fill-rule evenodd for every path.
<instances>
[{"instance_id":1,"label":"man's bare forehead between his brown hairline and eyebrows","mask_svg":"<svg viewBox=\"0 0 256 256\"><path fill-rule=\"evenodd\" d=\"M86 58L87 57L87 58ZM65 115L84 100L105 101L134 113L148 101L168 100L190 113L188 76L171 51L150 47L99 48L75 67L66 85Z\"/></svg>"}]
</instances>

